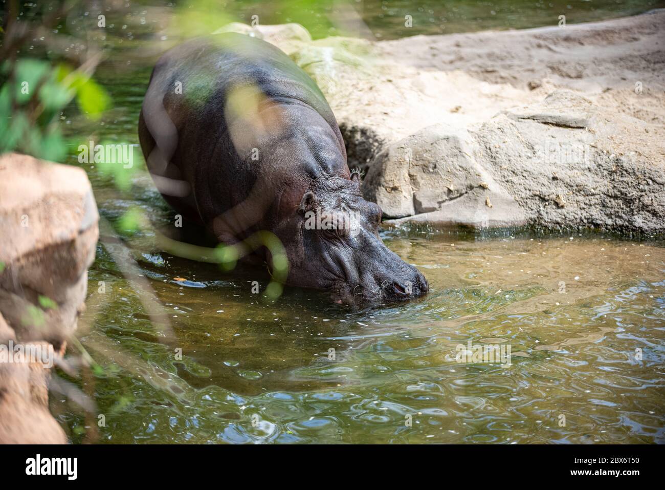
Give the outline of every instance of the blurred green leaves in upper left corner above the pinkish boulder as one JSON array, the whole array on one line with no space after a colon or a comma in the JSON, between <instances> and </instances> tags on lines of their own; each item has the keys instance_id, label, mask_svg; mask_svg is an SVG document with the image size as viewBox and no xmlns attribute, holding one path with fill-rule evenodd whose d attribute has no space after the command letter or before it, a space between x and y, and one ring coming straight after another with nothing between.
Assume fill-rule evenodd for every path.
<instances>
[{"instance_id":1,"label":"blurred green leaves in upper left corner above the pinkish boulder","mask_svg":"<svg viewBox=\"0 0 665 490\"><path fill-rule=\"evenodd\" d=\"M65 15L74 3L56 5ZM8 24L0 33L0 152L17 151L62 162L67 150L60 124L65 107L75 99L80 112L96 120L110 107L110 96L90 76L94 63L85 57L71 59L66 31L52 29L47 40L42 17L37 15L32 21L21 17L33 4L13 7L20 10L19 16L13 12L3 15ZM50 3L42 7L45 11L55 8ZM59 20L57 15L53 17L53 23ZM36 39L44 41L42 49L35 49Z\"/></svg>"}]
</instances>

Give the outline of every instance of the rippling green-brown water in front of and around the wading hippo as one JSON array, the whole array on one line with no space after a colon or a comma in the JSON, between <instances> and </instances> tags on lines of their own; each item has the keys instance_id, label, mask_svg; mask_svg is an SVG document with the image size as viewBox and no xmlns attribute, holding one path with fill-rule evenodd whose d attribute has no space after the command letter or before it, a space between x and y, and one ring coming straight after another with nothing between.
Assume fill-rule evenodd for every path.
<instances>
[{"instance_id":1,"label":"rippling green-brown water in front of and around the wading hippo","mask_svg":"<svg viewBox=\"0 0 665 490\"><path fill-rule=\"evenodd\" d=\"M568 3L591 17L646 5ZM396 35L381 3L363 5L375 32ZM553 7L455 8L458 25L476 30L533 27ZM90 130L94 140L136 144L152 61L132 61L98 70L114 97L100 124L73 109L63 122L70 163ZM386 244L428 278L425 298L352 310L287 288L272 301L252 293L252 281L263 290L269 280L261 268L224 272L155 245L174 216L142 162L126 175L129 188L84 168L102 237L72 352L93 367L80 377L59 371L66 394L51 395L75 443L665 442L662 242L386 228ZM126 230L138 214L144 224ZM511 356L458 362L469 341ZM80 407L86 397L91 413Z\"/></svg>"}]
</instances>

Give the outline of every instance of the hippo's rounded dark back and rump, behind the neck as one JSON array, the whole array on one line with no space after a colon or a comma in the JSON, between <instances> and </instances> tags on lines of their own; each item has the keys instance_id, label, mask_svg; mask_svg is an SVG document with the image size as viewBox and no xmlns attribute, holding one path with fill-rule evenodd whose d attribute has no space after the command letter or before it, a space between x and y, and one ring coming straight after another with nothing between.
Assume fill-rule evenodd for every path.
<instances>
[{"instance_id":1,"label":"hippo's rounded dark back and rump, behind the neck","mask_svg":"<svg viewBox=\"0 0 665 490\"><path fill-rule=\"evenodd\" d=\"M237 124L252 106L251 94L259 94L261 111L272 103L283 111L261 113L265 119L253 119L257 126ZM315 131L317 118L329 126L336 154L342 155L336 170L348 174L344 141L314 81L277 47L225 33L188 41L159 59L141 110L139 138L162 195L176 210L206 224L210 216L245 201L259 176L279 182L280 172L292 170L293 158L275 162L275 144ZM281 136L270 140L266 134ZM311 137L325 148L328 143L319 134ZM254 151L261 155L257 162L251 158Z\"/></svg>"}]
</instances>

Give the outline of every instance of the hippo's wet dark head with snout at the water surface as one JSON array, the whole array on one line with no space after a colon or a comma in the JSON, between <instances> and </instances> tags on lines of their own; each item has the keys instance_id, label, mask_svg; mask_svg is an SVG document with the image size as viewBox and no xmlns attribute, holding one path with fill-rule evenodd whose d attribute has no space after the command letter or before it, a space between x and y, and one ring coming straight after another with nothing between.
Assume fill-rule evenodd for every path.
<instances>
[{"instance_id":1,"label":"hippo's wet dark head with snout at the water surface","mask_svg":"<svg viewBox=\"0 0 665 490\"><path fill-rule=\"evenodd\" d=\"M303 194L287 225L288 283L347 304L422 296L427 280L383 244L381 208L362 198L359 180L334 178Z\"/></svg>"}]
</instances>

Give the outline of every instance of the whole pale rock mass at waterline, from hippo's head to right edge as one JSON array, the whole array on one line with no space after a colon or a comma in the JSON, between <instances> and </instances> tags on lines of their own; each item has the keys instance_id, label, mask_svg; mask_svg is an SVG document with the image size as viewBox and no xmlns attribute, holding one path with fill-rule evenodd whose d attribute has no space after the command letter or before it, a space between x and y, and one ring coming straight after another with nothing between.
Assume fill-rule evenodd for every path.
<instances>
[{"instance_id":1,"label":"whole pale rock mass at waterline, from hippo's head to right edge","mask_svg":"<svg viewBox=\"0 0 665 490\"><path fill-rule=\"evenodd\" d=\"M363 190L402 222L659 233L665 176L653 162L662 162L664 148L648 126L554 91L475 130L435 124L390 144ZM626 145L639 150L624 153Z\"/></svg>"}]
</instances>

